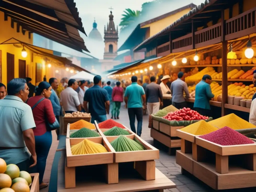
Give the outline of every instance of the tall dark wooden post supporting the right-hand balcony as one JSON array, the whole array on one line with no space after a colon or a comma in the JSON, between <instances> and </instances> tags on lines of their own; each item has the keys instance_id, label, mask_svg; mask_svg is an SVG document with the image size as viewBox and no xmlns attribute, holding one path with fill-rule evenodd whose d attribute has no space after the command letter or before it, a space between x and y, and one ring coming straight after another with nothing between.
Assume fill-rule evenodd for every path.
<instances>
[{"instance_id":1,"label":"tall dark wooden post supporting the right-hand balcony","mask_svg":"<svg viewBox=\"0 0 256 192\"><path fill-rule=\"evenodd\" d=\"M225 40L226 21L224 19L224 9L221 10L221 40L222 40L222 99L221 116L225 115L225 104L228 102L228 42Z\"/></svg>"}]
</instances>

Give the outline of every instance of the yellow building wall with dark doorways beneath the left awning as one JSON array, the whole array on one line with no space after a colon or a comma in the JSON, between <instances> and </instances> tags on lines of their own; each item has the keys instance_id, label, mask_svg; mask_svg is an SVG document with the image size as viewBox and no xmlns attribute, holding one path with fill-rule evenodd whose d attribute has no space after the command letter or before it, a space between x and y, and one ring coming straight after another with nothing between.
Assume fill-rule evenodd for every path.
<instances>
[{"instance_id":1,"label":"yellow building wall with dark doorways beneath the left awning","mask_svg":"<svg viewBox=\"0 0 256 192\"><path fill-rule=\"evenodd\" d=\"M33 44L33 34L31 34L31 38L28 38L28 31L25 32L25 35L22 34L22 29L20 27L20 32L17 33L17 25L14 23L14 28L11 27L11 18L8 17L8 21L4 20L4 13L0 11L0 43L10 39L15 38L19 41ZM8 42L17 42L15 40L10 40ZM30 65L32 54L29 50L27 50L27 57L23 58L21 56L21 51L23 47L20 44L15 44L20 46L20 48L15 47L13 44L0 45L0 50L2 50L2 83L7 84L7 52L14 55L14 78L19 77L19 59L26 60L26 69L27 65Z\"/></svg>"}]
</instances>

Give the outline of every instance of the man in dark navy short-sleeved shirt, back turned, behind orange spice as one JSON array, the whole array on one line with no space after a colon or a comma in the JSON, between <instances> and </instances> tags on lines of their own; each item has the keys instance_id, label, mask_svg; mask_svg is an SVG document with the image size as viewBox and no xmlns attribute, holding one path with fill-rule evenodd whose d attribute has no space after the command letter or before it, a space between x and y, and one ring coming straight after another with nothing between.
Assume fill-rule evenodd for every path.
<instances>
[{"instance_id":1,"label":"man in dark navy short-sleeved shirt, back turned, behind orange spice","mask_svg":"<svg viewBox=\"0 0 256 192\"><path fill-rule=\"evenodd\" d=\"M83 106L87 113L91 113L91 123L94 123L94 120L100 123L107 120L106 113L109 114L110 105L109 96L108 92L100 87L101 76L96 75L93 78L93 82L94 86L89 88L84 94ZM89 110L87 103L89 103Z\"/></svg>"}]
</instances>

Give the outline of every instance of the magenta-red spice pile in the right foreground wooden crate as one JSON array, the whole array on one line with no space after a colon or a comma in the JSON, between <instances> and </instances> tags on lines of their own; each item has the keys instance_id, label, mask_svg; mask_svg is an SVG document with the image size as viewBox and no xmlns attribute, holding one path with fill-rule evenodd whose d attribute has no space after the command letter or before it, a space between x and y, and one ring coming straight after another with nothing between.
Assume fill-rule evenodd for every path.
<instances>
[{"instance_id":1,"label":"magenta-red spice pile in the right foreground wooden crate","mask_svg":"<svg viewBox=\"0 0 256 192\"><path fill-rule=\"evenodd\" d=\"M199 137L219 145L243 145L254 143L248 137L229 127L223 127L217 131Z\"/></svg>"}]
</instances>

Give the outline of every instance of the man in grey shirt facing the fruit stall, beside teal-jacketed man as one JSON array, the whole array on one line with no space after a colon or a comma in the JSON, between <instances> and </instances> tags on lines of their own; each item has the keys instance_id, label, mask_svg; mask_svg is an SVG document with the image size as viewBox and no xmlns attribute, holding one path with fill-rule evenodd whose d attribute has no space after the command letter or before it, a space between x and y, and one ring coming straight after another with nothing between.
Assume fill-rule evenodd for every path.
<instances>
[{"instance_id":1,"label":"man in grey shirt facing the fruit stall, beside teal-jacketed man","mask_svg":"<svg viewBox=\"0 0 256 192\"><path fill-rule=\"evenodd\" d=\"M183 72L178 73L178 79L171 84L172 93L172 105L177 109L182 109L187 106L183 92L186 94L186 98L189 98L188 86L184 82L185 77Z\"/></svg>"}]
</instances>

